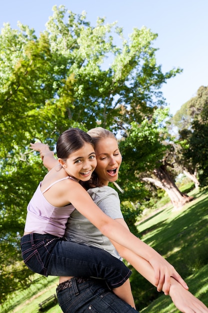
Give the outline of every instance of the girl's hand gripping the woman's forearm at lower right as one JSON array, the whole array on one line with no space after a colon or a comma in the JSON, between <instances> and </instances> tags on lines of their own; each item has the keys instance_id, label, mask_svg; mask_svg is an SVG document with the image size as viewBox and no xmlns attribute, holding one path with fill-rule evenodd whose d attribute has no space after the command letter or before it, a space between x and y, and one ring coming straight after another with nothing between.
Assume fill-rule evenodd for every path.
<instances>
[{"instance_id":1,"label":"girl's hand gripping the woman's forearm at lower right","mask_svg":"<svg viewBox=\"0 0 208 313\"><path fill-rule=\"evenodd\" d=\"M185 289L189 289L187 283L179 275L174 266L159 253L149 262L155 271L155 285L157 286L158 291L163 290L166 295L169 294L171 277L175 278Z\"/></svg>"}]
</instances>

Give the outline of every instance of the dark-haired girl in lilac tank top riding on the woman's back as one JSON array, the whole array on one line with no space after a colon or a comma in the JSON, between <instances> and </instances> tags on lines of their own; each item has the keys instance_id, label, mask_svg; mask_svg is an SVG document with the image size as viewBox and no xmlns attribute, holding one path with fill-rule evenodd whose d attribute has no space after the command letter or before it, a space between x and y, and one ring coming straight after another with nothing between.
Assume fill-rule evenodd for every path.
<instances>
[{"instance_id":1,"label":"dark-haired girl in lilac tank top riding on the woman's back","mask_svg":"<svg viewBox=\"0 0 208 313\"><path fill-rule=\"evenodd\" d=\"M79 180L91 178L97 165L92 139L86 132L72 128L60 135L56 148L58 164L39 183L27 206L21 238L23 260L31 270L45 276L75 274L105 278L116 294L124 295L129 301L128 282L124 282L131 271L123 262L102 249L62 239L74 205L77 209L92 210L93 221L100 219L99 211L102 213L79 184ZM85 209L80 212L84 213ZM108 232L105 230L108 221L101 218L96 224Z\"/></svg>"}]
</instances>

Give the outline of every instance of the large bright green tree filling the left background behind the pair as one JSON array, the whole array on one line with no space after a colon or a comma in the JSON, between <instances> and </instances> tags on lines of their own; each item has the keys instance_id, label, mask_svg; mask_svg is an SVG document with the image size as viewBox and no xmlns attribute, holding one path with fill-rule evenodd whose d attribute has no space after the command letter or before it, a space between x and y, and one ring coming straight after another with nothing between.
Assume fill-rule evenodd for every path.
<instances>
[{"instance_id":1,"label":"large bright green tree filling the left background behind the pair","mask_svg":"<svg viewBox=\"0 0 208 313\"><path fill-rule=\"evenodd\" d=\"M84 12L76 15L64 6L53 7L38 38L28 26L18 27L5 24L0 34L0 301L29 283L31 274L18 266L19 238L27 203L45 169L28 151L29 142L54 148L58 135L71 126L101 125L123 135L130 122L151 119L165 104L160 87L181 71L162 72L153 47L157 34L146 27L125 39L115 23L98 18L91 26ZM106 66L108 57L112 61ZM145 160L144 153L143 162L152 157Z\"/></svg>"}]
</instances>

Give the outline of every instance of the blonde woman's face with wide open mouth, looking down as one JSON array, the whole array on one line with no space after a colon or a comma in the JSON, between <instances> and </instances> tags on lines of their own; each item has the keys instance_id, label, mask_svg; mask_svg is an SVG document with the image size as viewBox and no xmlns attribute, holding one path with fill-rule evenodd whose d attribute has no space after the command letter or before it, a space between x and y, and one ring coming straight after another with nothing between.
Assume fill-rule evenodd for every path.
<instances>
[{"instance_id":1,"label":"blonde woman's face with wide open mouth, looking down","mask_svg":"<svg viewBox=\"0 0 208 313\"><path fill-rule=\"evenodd\" d=\"M117 140L111 137L99 140L96 143L95 153L97 158L95 171L101 182L108 185L109 181L116 181L122 161Z\"/></svg>"}]
</instances>

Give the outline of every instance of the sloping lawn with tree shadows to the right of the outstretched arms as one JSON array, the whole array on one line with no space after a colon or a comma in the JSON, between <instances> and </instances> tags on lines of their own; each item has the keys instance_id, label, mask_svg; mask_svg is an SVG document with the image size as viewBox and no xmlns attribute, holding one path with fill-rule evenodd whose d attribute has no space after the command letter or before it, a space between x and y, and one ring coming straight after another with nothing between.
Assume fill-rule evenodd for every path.
<instances>
[{"instance_id":1,"label":"sloping lawn with tree shadows to the right of the outstretched arms","mask_svg":"<svg viewBox=\"0 0 208 313\"><path fill-rule=\"evenodd\" d=\"M181 210L169 204L147 216L138 229L141 239L165 256L187 281L190 291L208 306L208 191L194 190L189 194L195 200ZM161 295L141 312L179 310L169 296Z\"/></svg>"}]
</instances>

